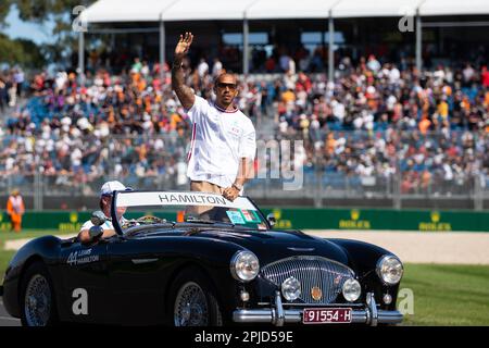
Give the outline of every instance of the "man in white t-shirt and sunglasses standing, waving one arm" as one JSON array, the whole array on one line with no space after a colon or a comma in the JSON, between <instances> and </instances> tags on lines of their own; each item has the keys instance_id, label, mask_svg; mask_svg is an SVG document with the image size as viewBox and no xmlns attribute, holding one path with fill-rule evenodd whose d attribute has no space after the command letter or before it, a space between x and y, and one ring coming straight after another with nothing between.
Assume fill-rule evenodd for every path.
<instances>
[{"instance_id":1,"label":"man in white t-shirt and sunglasses standing, waving one arm","mask_svg":"<svg viewBox=\"0 0 489 348\"><path fill-rule=\"evenodd\" d=\"M180 35L172 66L172 87L192 122L187 176L190 190L221 194L235 200L248 177L256 151L253 123L234 104L238 96L235 75L223 73L214 80L215 102L196 96L184 84L181 62L193 40Z\"/></svg>"}]
</instances>

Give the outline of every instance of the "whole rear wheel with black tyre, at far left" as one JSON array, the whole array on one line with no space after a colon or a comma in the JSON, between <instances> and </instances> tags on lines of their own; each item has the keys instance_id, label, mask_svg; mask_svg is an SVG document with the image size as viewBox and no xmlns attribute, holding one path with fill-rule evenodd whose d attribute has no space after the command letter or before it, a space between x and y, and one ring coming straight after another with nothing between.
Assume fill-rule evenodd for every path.
<instances>
[{"instance_id":1,"label":"whole rear wheel with black tyre, at far left","mask_svg":"<svg viewBox=\"0 0 489 348\"><path fill-rule=\"evenodd\" d=\"M42 262L29 265L22 277L20 302L23 326L52 326L58 323L54 290Z\"/></svg>"}]
</instances>

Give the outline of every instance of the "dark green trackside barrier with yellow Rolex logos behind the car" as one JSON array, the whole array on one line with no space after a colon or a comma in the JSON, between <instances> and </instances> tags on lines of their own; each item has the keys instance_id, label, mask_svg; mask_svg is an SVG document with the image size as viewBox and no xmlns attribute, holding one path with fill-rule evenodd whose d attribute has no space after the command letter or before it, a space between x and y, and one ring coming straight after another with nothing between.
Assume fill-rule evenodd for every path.
<instances>
[{"instance_id":1,"label":"dark green trackside barrier with yellow Rolex logos behind the car","mask_svg":"<svg viewBox=\"0 0 489 348\"><path fill-rule=\"evenodd\" d=\"M383 209L263 209L264 214L273 212L277 217L276 228L297 229L398 229L419 232L489 232L489 212L429 211L429 210L383 210ZM78 232L91 212L76 211L28 211L23 217L26 229L59 229ZM153 213L167 220L177 220L177 213ZM133 213L140 216L138 213ZM131 214L126 217L131 219ZM0 231L10 231L11 224L5 211L0 211Z\"/></svg>"}]
</instances>

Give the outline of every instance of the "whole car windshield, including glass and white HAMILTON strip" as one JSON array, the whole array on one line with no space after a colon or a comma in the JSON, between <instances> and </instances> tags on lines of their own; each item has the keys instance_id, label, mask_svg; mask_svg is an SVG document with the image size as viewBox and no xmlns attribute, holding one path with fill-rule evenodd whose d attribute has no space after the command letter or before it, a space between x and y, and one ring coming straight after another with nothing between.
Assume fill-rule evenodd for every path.
<instances>
[{"instance_id":1,"label":"whole car windshield, including glass and white HAMILTON strip","mask_svg":"<svg viewBox=\"0 0 489 348\"><path fill-rule=\"evenodd\" d=\"M135 225L166 222L267 228L262 213L247 197L231 202L221 195L206 192L120 191L114 204L113 214L118 216L116 224L123 233Z\"/></svg>"}]
</instances>

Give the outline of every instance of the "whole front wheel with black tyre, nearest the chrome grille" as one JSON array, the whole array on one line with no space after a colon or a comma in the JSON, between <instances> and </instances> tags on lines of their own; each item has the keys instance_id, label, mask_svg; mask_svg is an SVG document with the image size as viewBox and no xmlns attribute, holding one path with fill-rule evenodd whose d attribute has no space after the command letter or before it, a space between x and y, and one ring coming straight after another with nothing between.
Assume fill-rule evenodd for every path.
<instances>
[{"instance_id":1,"label":"whole front wheel with black tyre, nearest the chrome grille","mask_svg":"<svg viewBox=\"0 0 489 348\"><path fill-rule=\"evenodd\" d=\"M170 290L168 304L171 325L223 325L215 291L199 269L186 269L175 278Z\"/></svg>"}]
</instances>

